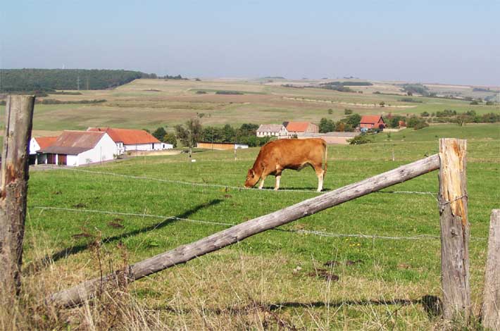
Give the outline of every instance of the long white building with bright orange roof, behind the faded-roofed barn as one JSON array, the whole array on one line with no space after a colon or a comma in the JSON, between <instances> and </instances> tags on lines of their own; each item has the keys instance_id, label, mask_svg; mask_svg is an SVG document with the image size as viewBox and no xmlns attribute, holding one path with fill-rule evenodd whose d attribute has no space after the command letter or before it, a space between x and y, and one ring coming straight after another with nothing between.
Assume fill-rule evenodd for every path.
<instances>
[{"instance_id":1,"label":"long white building with bright orange roof, behind the faded-roofed barn","mask_svg":"<svg viewBox=\"0 0 500 331\"><path fill-rule=\"evenodd\" d=\"M116 129L114 127L89 127L87 131L106 132L116 144L116 155L127 151L161 151L173 149L172 144L165 144L144 130Z\"/></svg>"}]
</instances>

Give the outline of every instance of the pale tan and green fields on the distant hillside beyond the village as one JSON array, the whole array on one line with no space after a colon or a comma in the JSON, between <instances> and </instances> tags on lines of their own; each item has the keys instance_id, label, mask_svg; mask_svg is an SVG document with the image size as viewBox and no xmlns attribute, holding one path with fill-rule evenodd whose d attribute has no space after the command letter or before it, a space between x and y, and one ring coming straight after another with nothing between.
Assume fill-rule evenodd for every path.
<instances>
[{"instance_id":1,"label":"pale tan and green fields on the distant hillside beyond the village","mask_svg":"<svg viewBox=\"0 0 500 331\"><path fill-rule=\"evenodd\" d=\"M420 114L452 109L459 113L475 110L477 114L498 112L500 106L471 106L468 101L432 99L413 96L415 102L399 101L401 93L389 82L374 82L369 87L351 87L363 92L336 92L317 88L282 87L285 84L318 83L323 81L268 82L268 80L135 80L111 90L80 91L82 95L53 94L39 99L78 101L106 99L99 104L37 104L35 130L81 130L89 126L115 126L154 130L176 124L204 113L202 125L241 125L242 123L282 123L285 120L305 120L319 123L321 118L338 120L344 109L360 114ZM442 88L445 88L443 86ZM449 87L452 89L453 87ZM472 87L461 88L474 95ZM204 91L205 94L197 94ZM237 91L242 95L215 94L217 91ZM470 93L469 93L470 92ZM465 92L464 92L465 93ZM465 95L465 94L464 94ZM482 95L482 94L481 94ZM380 102L385 107L380 107ZM4 111L0 106L0 115ZM328 112L332 109L332 114Z\"/></svg>"}]
</instances>

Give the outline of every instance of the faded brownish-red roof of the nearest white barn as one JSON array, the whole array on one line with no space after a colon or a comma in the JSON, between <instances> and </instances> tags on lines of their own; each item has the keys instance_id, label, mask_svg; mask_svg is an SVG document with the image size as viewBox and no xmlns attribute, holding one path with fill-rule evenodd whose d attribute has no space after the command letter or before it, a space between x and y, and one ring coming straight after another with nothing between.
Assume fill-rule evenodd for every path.
<instances>
[{"instance_id":1,"label":"faded brownish-red roof of the nearest white barn","mask_svg":"<svg viewBox=\"0 0 500 331\"><path fill-rule=\"evenodd\" d=\"M53 154L80 154L93 149L104 134L105 132L63 131L54 144L40 151Z\"/></svg>"}]
</instances>

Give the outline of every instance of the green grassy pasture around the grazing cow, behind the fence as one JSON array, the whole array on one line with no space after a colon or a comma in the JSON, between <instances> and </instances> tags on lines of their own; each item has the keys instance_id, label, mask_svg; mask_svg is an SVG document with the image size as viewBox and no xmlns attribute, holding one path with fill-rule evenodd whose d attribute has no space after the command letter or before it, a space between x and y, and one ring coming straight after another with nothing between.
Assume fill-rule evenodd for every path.
<instances>
[{"instance_id":1,"label":"green grassy pasture around the grazing cow, behind the fence","mask_svg":"<svg viewBox=\"0 0 500 331\"><path fill-rule=\"evenodd\" d=\"M255 92L254 85L249 88ZM325 187L342 187L435 154L437 137L443 136L468 139L470 284L477 315L489 213L500 201L499 125L439 125L393 133L390 141L381 134L372 144L330 146ZM100 270L108 273L226 228L215 223L242 223L317 194L302 192L317 184L311 169L285 171L282 188L290 191L283 192L187 184L241 187L257 153L238 151L235 161L232 151L199 151L195 163L180 154L80 168L88 172L32 171L24 281L42 290L33 293L27 286L25 292L43 302L44 294L98 277ZM269 178L266 186L272 185ZM149 316L143 329L442 328L428 305L441 295L437 187L434 172L349 201L134 282L126 297ZM101 246L92 244L96 241ZM47 257L50 262L41 264ZM40 318L70 329L106 314L84 306ZM120 328L119 320L114 323Z\"/></svg>"}]
</instances>

